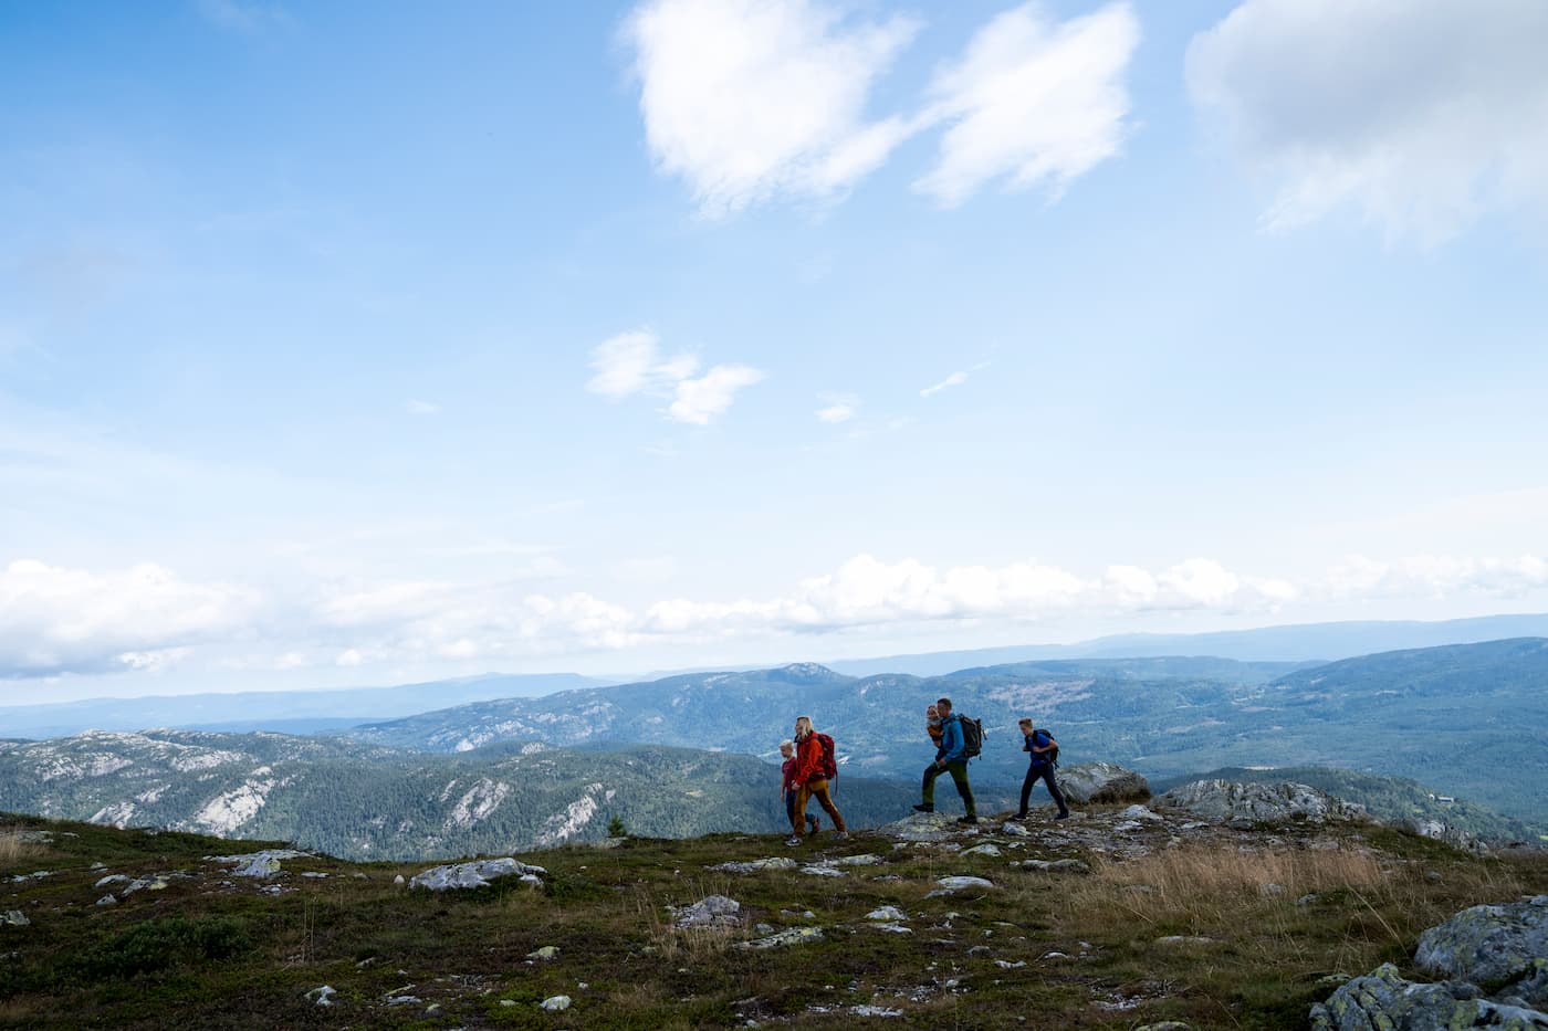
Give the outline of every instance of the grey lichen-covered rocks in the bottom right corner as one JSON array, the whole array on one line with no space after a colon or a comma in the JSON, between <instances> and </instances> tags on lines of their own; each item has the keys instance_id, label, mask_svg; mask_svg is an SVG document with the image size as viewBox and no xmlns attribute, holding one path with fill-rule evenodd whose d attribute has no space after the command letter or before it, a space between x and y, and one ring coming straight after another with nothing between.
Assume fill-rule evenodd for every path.
<instances>
[{"instance_id":1,"label":"grey lichen-covered rocks in the bottom right corner","mask_svg":"<svg viewBox=\"0 0 1548 1031\"><path fill-rule=\"evenodd\" d=\"M1311 1008L1316 1031L1548 1029L1548 895L1474 906L1420 935L1413 961L1447 980L1404 980L1384 963Z\"/></svg>"}]
</instances>

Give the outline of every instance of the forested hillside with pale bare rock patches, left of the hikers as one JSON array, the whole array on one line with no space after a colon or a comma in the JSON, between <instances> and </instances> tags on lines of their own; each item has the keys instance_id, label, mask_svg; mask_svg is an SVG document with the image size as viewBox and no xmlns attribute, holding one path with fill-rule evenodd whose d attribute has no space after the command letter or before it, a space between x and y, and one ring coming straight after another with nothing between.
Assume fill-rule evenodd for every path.
<instances>
[{"instance_id":1,"label":"forested hillside with pale bare rock patches, left of the hikers","mask_svg":"<svg viewBox=\"0 0 1548 1031\"><path fill-rule=\"evenodd\" d=\"M896 819L913 800L899 785L841 780L839 803L856 824ZM613 817L661 837L785 827L779 769L746 755L663 746L429 755L176 731L6 743L0 810L293 841L358 859L598 841Z\"/></svg>"}]
</instances>

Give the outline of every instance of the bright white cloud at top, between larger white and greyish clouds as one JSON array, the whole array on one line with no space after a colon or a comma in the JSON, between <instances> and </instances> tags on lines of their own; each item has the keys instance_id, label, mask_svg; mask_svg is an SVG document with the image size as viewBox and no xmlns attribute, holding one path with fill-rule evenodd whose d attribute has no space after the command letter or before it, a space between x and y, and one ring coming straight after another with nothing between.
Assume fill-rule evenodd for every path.
<instances>
[{"instance_id":1,"label":"bright white cloud at top, between larger white and greyish clouds","mask_svg":"<svg viewBox=\"0 0 1548 1031\"><path fill-rule=\"evenodd\" d=\"M955 206L994 180L1054 195L1119 152L1124 71L1139 43L1128 3L1054 22L1037 3L1000 14L937 73L926 121L946 121L935 167L915 183Z\"/></svg>"}]
</instances>

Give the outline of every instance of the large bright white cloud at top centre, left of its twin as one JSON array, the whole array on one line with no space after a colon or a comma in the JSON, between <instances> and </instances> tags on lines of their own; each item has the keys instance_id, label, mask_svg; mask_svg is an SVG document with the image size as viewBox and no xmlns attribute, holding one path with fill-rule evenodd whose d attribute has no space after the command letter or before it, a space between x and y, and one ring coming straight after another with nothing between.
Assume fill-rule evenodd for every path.
<instances>
[{"instance_id":1,"label":"large bright white cloud at top centre, left of its twin","mask_svg":"<svg viewBox=\"0 0 1548 1031\"><path fill-rule=\"evenodd\" d=\"M656 164L701 214L841 194L913 127L868 122L875 80L918 25L851 25L817 0L649 0L625 23Z\"/></svg>"}]
</instances>

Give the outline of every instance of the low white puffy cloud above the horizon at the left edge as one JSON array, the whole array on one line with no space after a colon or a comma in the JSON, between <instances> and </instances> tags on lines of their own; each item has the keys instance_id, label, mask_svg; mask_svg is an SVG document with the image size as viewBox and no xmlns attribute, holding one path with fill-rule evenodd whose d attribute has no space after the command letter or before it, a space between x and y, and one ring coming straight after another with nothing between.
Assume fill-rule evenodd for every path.
<instances>
[{"instance_id":1,"label":"low white puffy cloud above the horizon at the left edge","mask_svg":"<svg viewBox=\"0 0 1548 1031\"><path fill-rule=\"evenodd\" d=\"M15 560L0 571L0 676L164 669L189 644L241 633L257 604L149 563L99 574Z\"/></svg>"}]
</instances>

